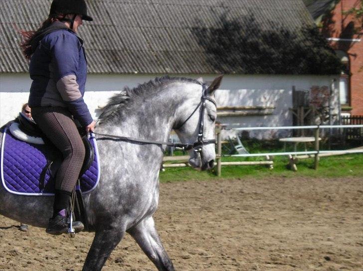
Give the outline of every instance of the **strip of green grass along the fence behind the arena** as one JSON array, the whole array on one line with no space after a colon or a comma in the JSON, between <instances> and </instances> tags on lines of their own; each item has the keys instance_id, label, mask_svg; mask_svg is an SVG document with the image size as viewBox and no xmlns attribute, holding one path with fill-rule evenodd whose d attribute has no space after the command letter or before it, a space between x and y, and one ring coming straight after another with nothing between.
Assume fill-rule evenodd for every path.
<instances>
[{"instance_id":1,"label":"strip of green grass along the fence behind the arena","mask_svg":"<svg viewBox=\"0 0 363 271\"><path fill-rule=\"evenodd\" d=\"M243 142L245 145L245 142ZM246 144L247 145L247 144ZM250 142L248 144L248 151L250 153L257 152L280 152L283 151L283 146L279 143L261 143ZM347 149L350 146L342 147ZM303 151L303 145L299 147L298 151ZM308 149L312 149L312 146L308 146ZM327 149L323 145L322 149ZM334 147L333 149L338 149ZM287 149L292 151L292 149ZM228 152L228 149L224 148L224 153ZM181 155L181 152L177 152L176 155ZM185 155L185 154L184 154ZM261 161L263 157L222 157L222 161ZM284 176L287 178L294 178L297 176L314 177L314 178L335 178L335 177L362 177L363 178L363 154L344 154L321 157L319 161L319 167L314 169L314 158L300 159L296 165L298 171L294 172L288 169L288 157L287 156L275 156L274 168L269 169L267 165L238 165L238 166L222 166L221 177L216 176L216 168L209 171L198 171L190 167L182 168L170 168L167 167L164 172L160 173L161 182L171 181L186 181L186 180L209 180L209 179L231 179L241 177L253 177L253 178L268 178Z\"/></svg>"}]
</instances>

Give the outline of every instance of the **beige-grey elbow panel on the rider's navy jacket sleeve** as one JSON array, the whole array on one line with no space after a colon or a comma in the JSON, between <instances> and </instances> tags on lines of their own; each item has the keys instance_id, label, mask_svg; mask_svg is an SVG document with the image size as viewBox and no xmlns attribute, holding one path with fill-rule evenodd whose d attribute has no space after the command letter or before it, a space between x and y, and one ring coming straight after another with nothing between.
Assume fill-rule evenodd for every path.
<instances>
[{"instance_id":1,"label":"beige-grey elbow panel on the rider's navy jacket sleeve","mask_svg":"<svg viewBox=\"0 0 363 271\"><path fill-rule=\"evenodd\" d=\"M68 74L57 82L57 90L62 96L64 102L70 102L82 98L77 84L77 77L74 74Z\"/></svg>"}]
</instances>

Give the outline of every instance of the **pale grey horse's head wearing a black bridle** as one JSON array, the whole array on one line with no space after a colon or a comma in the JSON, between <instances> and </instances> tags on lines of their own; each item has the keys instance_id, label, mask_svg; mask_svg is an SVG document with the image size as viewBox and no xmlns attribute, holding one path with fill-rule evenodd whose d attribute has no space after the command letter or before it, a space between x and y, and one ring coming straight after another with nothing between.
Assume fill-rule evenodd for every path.
<instances>
[{"instance_id":1,"label":"pale grey horse's head wearing a black bridle","mask_svg":"<svg viewBox=\"0 0 363 271\"><path fill-rule=\"evenodd\" d=\"M178 117L176 133L183 143L192 145L188 149L192 167L206 170L214 166L215 160L215 120L217 108L214 91L219 88L223 76L209 85L202 85L202 92L190 97Z\"/></svg>"}]
</instances>

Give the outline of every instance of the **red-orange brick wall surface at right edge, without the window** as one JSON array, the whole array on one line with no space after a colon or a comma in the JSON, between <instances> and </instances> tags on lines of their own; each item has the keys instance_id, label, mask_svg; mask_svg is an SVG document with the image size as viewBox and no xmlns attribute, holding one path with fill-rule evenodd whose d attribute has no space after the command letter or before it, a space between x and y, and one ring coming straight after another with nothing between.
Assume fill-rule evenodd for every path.
<instances>
[{"instance_id":1,"label":"red-orange brick wall surface at right edge, without the window","mask_svg":"<svg viewBox=\"0 0 363 271\"><path fill-rule=\"evenodd\" d=\"M341 0L331 13L331 17L326 19L322 30L326 37L342 37L361 39L360 42L334 42L331 45L336 50L343 50L348 53L350 60L350 106L353 108L352 115L363 115L363 35L362 17L356 18L353 14L343 14L352 7L359 8L361 0ZM361 32L350 36L347 29L350 24L354 27L361 27ZM343 34L342 34L343 32ZM349 31L348 31L349 32Z\"/></svg>"}]
</instances>

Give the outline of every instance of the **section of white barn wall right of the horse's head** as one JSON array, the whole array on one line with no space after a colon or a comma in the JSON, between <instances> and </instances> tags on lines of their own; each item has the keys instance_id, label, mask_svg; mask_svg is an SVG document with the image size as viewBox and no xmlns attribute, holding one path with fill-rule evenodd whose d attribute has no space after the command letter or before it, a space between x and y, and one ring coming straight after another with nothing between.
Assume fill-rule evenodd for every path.
<instances>
[{"instance_id":1,"label":"section of white barn wall right of the horse's head","mask_svg":"<svg viewBox=\"0 0 363 271\"><path fill-rule=\"evenodd\" d=\"M291 75L243 75L226 77L221 89L216 92L218 106L272 106L272 115L221 117L219 122L229 124L227 128L291 126L292 87L296 90L310 90L312 86L332 86L334 108L332 114L339 114L339 80L334 76L291 76ZM235 131L223 131L222 137L235 136ZM291 131L251 131L251 137L274 138L289 136Z\"/></svg>"}]
</instances>

